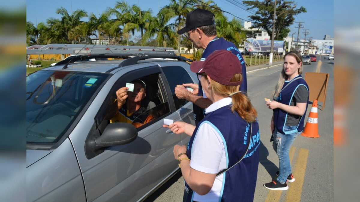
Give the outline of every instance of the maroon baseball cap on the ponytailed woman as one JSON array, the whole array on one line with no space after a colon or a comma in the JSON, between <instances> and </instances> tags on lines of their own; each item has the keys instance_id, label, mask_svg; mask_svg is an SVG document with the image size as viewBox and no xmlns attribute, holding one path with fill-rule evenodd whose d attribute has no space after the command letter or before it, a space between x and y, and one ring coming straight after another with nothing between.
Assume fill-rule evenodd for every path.
<instances>
[{"instance_id":1,"label":"maroon baseball cap on the ponytailed woman","mask_svg":"<svg viewBox=\"0 0 360 202\"><path fill-rule=\"evenodd\" d=\"M225 86L238 86L242 82L230 82L235 74L242 73L240 61L231 51L216 50L206 60L192 62L190 69L195 73L205 73L212 80Z\"/></svg>"}]
</instances>

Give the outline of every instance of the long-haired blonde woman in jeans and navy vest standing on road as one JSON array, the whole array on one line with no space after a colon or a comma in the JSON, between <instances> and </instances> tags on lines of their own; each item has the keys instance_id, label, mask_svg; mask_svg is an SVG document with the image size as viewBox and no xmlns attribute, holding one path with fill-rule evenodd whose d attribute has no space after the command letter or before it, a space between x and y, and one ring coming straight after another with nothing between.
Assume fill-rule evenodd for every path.
<instances>
[{"instance_id":1,"label":"long-haired blonde woman in jeans and navy vest standing on road","mask_svg":"<svg viewBox=\"0 0 360 202\"><path fill-rule=\"evenodd\" d=\"M295 138L304 128L304 118L309 101L309 87L301 77L302 59L297 51L284 56L284 66L278 84L273 91L273 100L266 105L274 111L271 131L274 134L274 149L279 156L278 178L264 187L271 190L287 190L287 182L294 182L289 159L289 150Z\"/></svg>"}]
</instances>

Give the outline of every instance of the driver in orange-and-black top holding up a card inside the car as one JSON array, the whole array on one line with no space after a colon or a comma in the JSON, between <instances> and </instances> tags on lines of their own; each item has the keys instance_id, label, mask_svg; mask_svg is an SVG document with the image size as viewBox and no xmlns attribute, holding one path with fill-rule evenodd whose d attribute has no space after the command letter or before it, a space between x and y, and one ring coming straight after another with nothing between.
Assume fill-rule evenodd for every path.
<instances>
[{"instance_id":1,"label":"driver in orange-and-black top holding up a card inside the car","mask_svg":"<svg viewBox=\"0 0 360 202\"><path fill-rule=\"evenodd\" d=\"M110 120L110 123L130 123L136 128L153 119L153 116L145 113L146 107L141 106L141 100L146 96L146 84L140 79L135 79L134 91L128 87L119 88L116 91L118 113Z\"/></svg>"}]
</instances>

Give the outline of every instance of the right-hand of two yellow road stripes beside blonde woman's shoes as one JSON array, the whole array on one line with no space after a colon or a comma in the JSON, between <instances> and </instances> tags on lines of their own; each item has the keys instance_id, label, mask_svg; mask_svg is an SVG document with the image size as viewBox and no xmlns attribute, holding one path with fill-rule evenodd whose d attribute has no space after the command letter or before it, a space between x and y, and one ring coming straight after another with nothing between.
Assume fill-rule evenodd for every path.
<instances>
[{"instance_id":1,"label":"right-hand of two yellow road stripes beside blonde woman's shoes","mask_svg":"<svg viewBox=\"0 0 360 202\"><path fill-rule=\"evenodd\" d=\"M293 171L296 176L295 182L291 183L289 190L287 191L286 201L300 201L302 193L302 185L304 184L307 156L309 155L309 150L300 148L296 160L296 168Z\"/></svg>"}]
</instances>

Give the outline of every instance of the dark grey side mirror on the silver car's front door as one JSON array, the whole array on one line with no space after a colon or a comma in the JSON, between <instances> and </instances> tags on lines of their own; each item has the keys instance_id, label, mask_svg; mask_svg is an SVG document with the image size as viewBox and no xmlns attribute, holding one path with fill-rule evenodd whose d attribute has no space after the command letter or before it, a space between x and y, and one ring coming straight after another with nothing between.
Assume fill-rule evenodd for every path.
<instances>
[{"instance_id":1,"label":"dark grey side mirror on the silver car's front door","mask_svg":"<svg viewBox=\"0 0 360 202\"><path fill-rule=\"evenodd\" d=\"M128 123L112 123L107 125L103 134L95 138L96 146L111 147L127 144L138 137L138 130Z\"/></svg>"}]
</instances>

